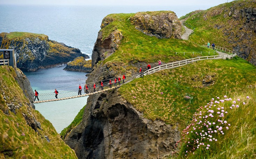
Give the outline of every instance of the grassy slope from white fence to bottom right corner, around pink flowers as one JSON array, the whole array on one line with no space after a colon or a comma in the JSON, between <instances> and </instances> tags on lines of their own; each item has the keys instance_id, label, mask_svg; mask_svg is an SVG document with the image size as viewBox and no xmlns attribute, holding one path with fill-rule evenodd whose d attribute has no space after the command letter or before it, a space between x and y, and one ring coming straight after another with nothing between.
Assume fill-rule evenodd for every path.
<instances>
[{"instance_id":1,"label":"grassy slope from white fence to bottom right corner, around pink flowers","mask_svg":"<svg viewBox=\"0 0 256 159\"><path fill-rule=\"evenodd\" d=\"M207 105L212 98L217 100L217 97L227 95L237 102L237 99L241 99L237 103L240 105L239 109L228 111L225 118L232 125L228 132L214 137L219 142L205 141L205 145L211 145L209 150L205 147L189 150L193 146L186 147L188 138L196 140L198 136L188 136L180 141L180 151L173 154L172 158L254 158L255 75L256 68L241 58L199 61L135 79L122 86L119 92L136 109L143 112L146 118L162 120L174 127L178 123L180 131L193 124L191 121L196 116L194 113L199 114L197 109ZM205 86L203 80L209 82L209 86ZM250 100L246 101L246 96L250 96ZM242 101L246 105L242 105ZM225 110L230 109L231 105L232 103L226 104Z\"/></svg>"}]
</instances>

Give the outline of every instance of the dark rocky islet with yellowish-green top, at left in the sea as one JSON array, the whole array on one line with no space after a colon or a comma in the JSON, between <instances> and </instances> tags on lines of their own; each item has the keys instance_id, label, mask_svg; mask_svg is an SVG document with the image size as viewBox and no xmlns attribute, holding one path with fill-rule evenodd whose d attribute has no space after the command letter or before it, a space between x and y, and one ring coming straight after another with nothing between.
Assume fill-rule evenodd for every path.
<instances>
[{"instance_id":1,"label":"dark rocky islet with yellowish-green top, at left in the sea","mask_svg":"<svg viewBox=\"0 0 256 159\"><path fill-rule=\"evenodd\" d=\"M79 56L89 58L79 49L51 41L43 34L1 33L0 44L3 49L14 49L17 67L25 71L53 67L72 61Z\"/></svg>"}]
</instances>

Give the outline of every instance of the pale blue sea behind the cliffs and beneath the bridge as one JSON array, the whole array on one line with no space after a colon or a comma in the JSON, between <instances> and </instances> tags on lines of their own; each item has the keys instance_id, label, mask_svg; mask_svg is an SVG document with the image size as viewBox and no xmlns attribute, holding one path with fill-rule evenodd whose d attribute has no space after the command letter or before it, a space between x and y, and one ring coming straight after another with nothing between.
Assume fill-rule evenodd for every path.
<instances>
[{"instance_id":1,"label":"pale blue sea behind the cliffs and beneath the bridge","mask_svg":"<svg viewBox=\"0 0 256 159\"><path fill-rule=\"evenodd\" d=\"M102 19L112 13L171 10L178 17L211 6L0 6L0 33L30 32L48 35L49 39L79 48L91 57ZM32 89L39 92L84 83L86 73L64 71L64 66L24 72ZM87 97L35 104L60 133L86 104Z\"/></svg>"}]
</instances>

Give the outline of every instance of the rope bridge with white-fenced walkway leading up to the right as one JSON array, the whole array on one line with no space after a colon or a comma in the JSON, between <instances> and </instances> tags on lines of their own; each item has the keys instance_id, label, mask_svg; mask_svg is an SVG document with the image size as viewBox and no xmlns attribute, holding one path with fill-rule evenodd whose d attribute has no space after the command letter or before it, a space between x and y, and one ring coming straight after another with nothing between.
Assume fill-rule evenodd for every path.
<instances>
[{"instance_id":1,"label":"rope bridge with white-fenced walkway leading up to the right","mask_svg":"<svg viewBox=\"0 0 256 159\"><path fill-rule=\"evenodd\" d=\"M215 60L215 59L232 59L234 56L236 56L235 53L233 53L232 51L224 48L225 52L228 52L230 54L226 54L223 52L219 52L219 55L214 55L214 56L200 56L197 58L192 58L192 59L186 59L186 60L181 60L181 61L176 61L176 62L171 62L171 63L167 63L167 64L162 64L162 65L158 65L157 67L154 67L152 69L149 69L143 73L134 73L131 74L130 76L127 75L127 77L125 78L125 80L122 79L121 77L121 81L119 82L117 80L117 82L115 83L114 80L115 78L111 78L111 79L106 79L103 83L103 87L101 87L101 81L95 81L93 83L86 83L88 86L88 92L86 93L86 89L84 88L83 94L78 95L78 86L70 86L70 87L65 87L65 88L60 88L59 94L58 94L58 98L55 98L55 92L54 90L47 90L46 93L40 93L38 95L38 98L40 99L39 101L34 101L34 103L44 103L44 102L49 102L49 101L58 101L58 100L65 100L65 99L71 99L71 98L78 98L78 97L85 97L85 96L90 96L93 94L98 94L104 91L108 91L111 89L116 89L121 87L123 84L128 83L130 81L132 81L133 79L136 78L140 78L152 73L155 73L157 71L160 70L165 70L165 69L172 69L172 68L176 68L176 67L180 67L186 64L190 64L196 61L201 61L201 60ZM220 49L221 51L221 49ZM223 51L223 48L222 48ZM117 78L118 79L118 78ZM110 84L109 80L112 81L112 84ZM93 85L96 85L96 88L93 88ZM42 91L45 92L45 91Z\"/></svg>"}]
</instances>

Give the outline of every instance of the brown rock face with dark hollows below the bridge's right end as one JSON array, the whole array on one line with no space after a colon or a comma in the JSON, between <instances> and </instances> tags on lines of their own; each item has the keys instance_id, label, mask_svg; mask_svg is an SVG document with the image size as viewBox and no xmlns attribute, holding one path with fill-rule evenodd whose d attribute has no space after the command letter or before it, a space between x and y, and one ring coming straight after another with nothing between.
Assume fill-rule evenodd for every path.
<instances>
[{"instance_id":1,"label":"brown rock face with dark hollows below the bridge's right end","mask_svg":"<svg viewBox=\"0 0 256 159\"><path fill-rule=\"evenodd\" d=\"M151 121L118 90L90 96L83 121L64 139L82 158L160 158L180 139L178 127ZM157 150L158 146L158 150Z\"/></svg>"}]
</instances>

